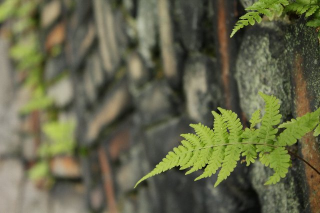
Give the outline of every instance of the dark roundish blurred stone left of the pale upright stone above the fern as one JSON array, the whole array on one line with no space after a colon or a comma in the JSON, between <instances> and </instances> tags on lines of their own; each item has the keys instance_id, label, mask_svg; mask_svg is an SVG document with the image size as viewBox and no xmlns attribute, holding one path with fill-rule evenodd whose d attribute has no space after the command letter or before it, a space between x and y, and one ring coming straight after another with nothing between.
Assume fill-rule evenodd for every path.
<instances>
[{"instance_id":1,"label":"dark roundish blurred stone left of the pale upright stone above the fern","mask_svg":"<svg viewBox=\"0 0 320 213\"><path fill-rule=\"evenodd\" d=\"M163 80L144 86L136 97L135 106L143 124L159 122L179 111L176 96Z\"/></svg>"}]
</instances>

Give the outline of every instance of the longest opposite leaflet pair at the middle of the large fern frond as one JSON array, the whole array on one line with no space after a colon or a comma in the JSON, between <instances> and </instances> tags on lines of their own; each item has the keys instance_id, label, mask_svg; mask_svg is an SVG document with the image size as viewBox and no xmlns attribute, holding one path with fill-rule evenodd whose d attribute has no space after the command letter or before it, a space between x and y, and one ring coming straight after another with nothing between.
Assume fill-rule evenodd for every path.
<instances>
[{"instance_id":1,"label":"longest opposite leaflet pair at the middle of the large fern frond","mask_svg":"<svg viewBox=\"0 0 320 213\"><path fill-rule=\"evenodd\" d=\"M240 152L242 148L242 144L240 142L242 140L241 134L243 132L242 124L236 113L220 107L218 107L218 109L222 113L222 118L226 122L227 128L229 130L229 143L237 144L230 144L226 146L224 151L224 158L222 160L222 167L218 174L218 178L214 184L214 187L230 175L230 173L236 166L237 161L240 159Z\"/></svg>"}]
</instances>

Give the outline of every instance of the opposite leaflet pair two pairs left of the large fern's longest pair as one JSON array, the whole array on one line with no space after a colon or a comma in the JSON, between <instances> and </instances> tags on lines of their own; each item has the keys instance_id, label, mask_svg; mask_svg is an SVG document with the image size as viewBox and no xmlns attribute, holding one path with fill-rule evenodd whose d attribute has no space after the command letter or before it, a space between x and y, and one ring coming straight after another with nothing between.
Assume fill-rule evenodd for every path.
<instances>
[{"instance_id":1,"label":"opposite leaflet pair two pairs left of the large fern's longest pair","mask_svg":"<svg viewBox=\"0 0 320 213\"><path fill-rule=\"evenodd\" d=\"M190 126L194 128L197 136L200 138L202 147L214 144L214 133L212 129L201 123L190 124ZM195 160L193 167L185 174L189 174L193 171L203 168L209 162L212 150L213 149L211 147L200 149L199 155L197 155L197 159Z\"/></svg>"}]
</instances>

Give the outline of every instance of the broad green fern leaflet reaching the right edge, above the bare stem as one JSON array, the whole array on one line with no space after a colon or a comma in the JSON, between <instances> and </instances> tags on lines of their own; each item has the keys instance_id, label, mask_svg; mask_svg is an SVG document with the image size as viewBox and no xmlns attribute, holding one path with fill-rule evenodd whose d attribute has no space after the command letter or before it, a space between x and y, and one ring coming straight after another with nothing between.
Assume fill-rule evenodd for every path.
<instances>
[{"instance_id":1,"label":"broad green fern leaflet reaching the right edge, above the bare stem","mask_svg":"<svg viewBox=\"0 0 320 213\"><path fill-rule=\"evenodd\" d=\"M291 122L286 122L279 127L285 127L283 132L277 137L277 143L280 146L292 145L297 139L311 131L319 123L319 109L313 112L307 112L301 117L291 119Z\"/></svg>"}]
</instances>

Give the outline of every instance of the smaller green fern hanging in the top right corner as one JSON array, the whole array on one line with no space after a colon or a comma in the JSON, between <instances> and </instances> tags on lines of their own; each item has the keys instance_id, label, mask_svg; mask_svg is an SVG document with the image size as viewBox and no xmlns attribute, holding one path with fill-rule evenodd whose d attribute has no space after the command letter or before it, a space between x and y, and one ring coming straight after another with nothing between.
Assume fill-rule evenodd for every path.
<instances>
[{"instance_id":1,"label":"smaller green fern hanging in the top right corner","mask_svg":"<svg viewBox=\"0 0 320 213\"><path fill-rule=\"evenodd\" d=\"M274 17L281 16L283 11L294 12L297 15L305 14L305 17L310 17L310 20L306 22L307 26L316 28L320 26L320 0L258 0L245 10L248 12L239 17L230 37L243 26L254 25L255 22L260 23L262 20L260 14L272 20ZM318 37L320 38L320 32Z\"/></svg>"}]
</instances>

